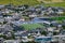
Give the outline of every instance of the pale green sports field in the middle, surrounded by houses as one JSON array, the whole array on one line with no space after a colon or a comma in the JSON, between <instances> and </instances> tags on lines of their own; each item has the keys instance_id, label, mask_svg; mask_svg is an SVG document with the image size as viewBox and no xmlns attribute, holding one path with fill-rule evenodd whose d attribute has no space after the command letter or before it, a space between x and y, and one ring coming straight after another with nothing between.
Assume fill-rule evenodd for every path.
<instances>
[{"instance_id":1,"label":"pale green sports field in the middle, surrounded by houses","mask_svg":"<svg viewBox=\"0 0 65 43\"><path fill-rule=\"evenodd\" d=\"M40 24L23 24L22 27L24 27L26 30L31 30L36 28L42 28L43 26Z\"/></svg>"}]
</instances>

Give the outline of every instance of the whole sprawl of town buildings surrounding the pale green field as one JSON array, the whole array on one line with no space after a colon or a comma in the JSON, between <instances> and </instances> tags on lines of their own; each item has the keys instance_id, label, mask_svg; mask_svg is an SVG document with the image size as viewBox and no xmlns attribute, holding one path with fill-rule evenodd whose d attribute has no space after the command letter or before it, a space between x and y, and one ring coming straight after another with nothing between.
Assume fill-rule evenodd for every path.
<instances>
[{"instance_id":1,"label":"whole sprawl of town buildings surrounding the pale green field","mask_svg":"<svg viewBox=\"0 0 65 43\"><path fill-rule=\"evenodd\" d=\"M64 12L54 6L0 5L0 43L64 43L65 23L50 18ZM43 28L26 30L23 24L40 24Z\"/></svg>"}]
</instances>

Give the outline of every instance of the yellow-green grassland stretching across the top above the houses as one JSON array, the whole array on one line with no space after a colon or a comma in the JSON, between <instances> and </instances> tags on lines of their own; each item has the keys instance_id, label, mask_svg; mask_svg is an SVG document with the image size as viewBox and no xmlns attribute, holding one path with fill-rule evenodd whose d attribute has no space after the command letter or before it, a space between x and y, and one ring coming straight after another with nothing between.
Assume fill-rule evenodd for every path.
<instances>
[{"instance_id":1,"label":"yellow-green grassland stretching across the top above the houses","mask_svg":"<svg viewBox=\"0 0 65 43\"><path fill-rule=\"evenodd\" d=\"M21 5L21 4L28 4L28 5L37 5L37 4L43 4L46 6L62 6L65 8L65 2L57 2L57 3L41 3L37 0L0 0L0 4L14 4L14 5Z\"/></svg>"}]
</instances>

